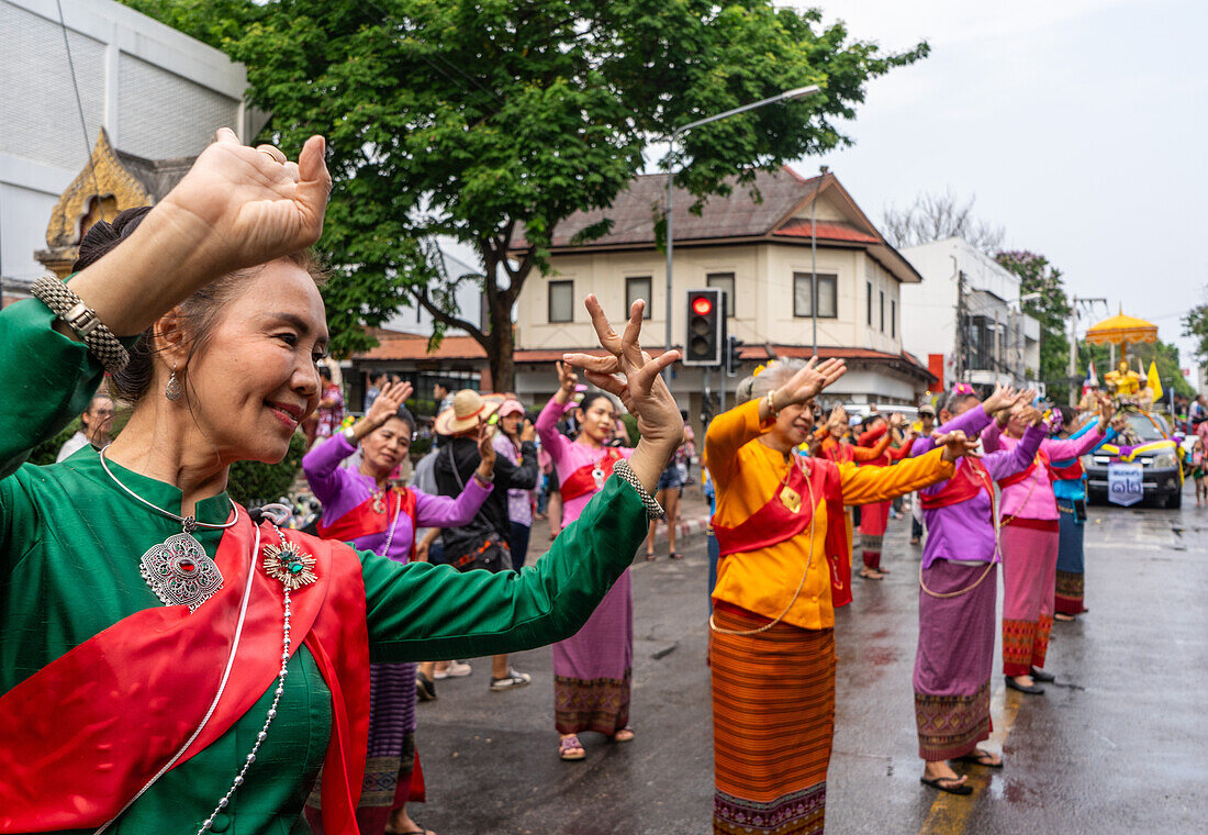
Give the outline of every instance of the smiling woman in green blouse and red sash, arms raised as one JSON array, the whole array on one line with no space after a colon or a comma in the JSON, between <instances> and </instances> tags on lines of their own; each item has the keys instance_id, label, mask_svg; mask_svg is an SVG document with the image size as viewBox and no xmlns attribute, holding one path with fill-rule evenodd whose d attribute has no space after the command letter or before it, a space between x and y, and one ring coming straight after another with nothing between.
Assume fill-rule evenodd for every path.
<instances>
[{"instance_id":1,"label":"smiling woman in green blouse and red sash, arms raised","mask_svg":"<svg viewBox=\"0 0 1208 835\"><path fill-rule=\"evenodd\" d=\"M294 163L220 131L104 257L0 313L0 833L304 831L320 767L326 831L355 831L368 662L574 634L657 512L676 356L641 353L641 305L621 337L592 297L609 356L570 360L643 440L538 566L400 566L234 505L230 465L280 460L319 400L330 187L320 137ZM118 440L23 464L104 370Z\"/></svg>"}]
</instances>

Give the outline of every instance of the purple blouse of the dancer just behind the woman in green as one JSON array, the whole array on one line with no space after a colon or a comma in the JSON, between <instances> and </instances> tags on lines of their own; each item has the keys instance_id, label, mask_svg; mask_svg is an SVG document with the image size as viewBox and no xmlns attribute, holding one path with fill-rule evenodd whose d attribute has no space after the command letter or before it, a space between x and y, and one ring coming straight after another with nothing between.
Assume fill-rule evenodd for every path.
<instances>
[{"instance_id":1,"label":"purple blouse of the dancer just behind the woman in green","mask_svg":"<svg viewBox=\"0 0 1208 835\"><path fill-rule=\"evenodd\" d=\"M323 521L331 524L353 508L362 504L377 491L372 476L364 475L339 465L356 451L343 433L337 433L324 441L302 459L302 471L310 482L310 489L323 503ZM490 494L492 487L483 487L477 479L470 479L465 489L455 499L447 495L430 495L414 487L407 487L416 494L416 521L422 528L455 528L469 524L478 508ZM353 547L382 553L389 530L365 534L353 540ZM390 540L390 552L382 556L395 562L407 562L411 558L411 543L414 529L406 514L399 516L394 539Z\"/></svg>"}]
</instances>

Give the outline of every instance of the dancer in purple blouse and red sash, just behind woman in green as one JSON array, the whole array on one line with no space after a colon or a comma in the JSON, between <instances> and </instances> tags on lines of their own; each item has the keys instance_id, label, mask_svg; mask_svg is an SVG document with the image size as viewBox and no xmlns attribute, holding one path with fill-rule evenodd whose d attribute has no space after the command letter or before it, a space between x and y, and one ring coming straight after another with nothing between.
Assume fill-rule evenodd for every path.
<instances>
[{"instance_id":1,"label":"dancer in purple blouse and red sash, just behind woman in green","mask_svg":"<svg viewBox=\"0 0 1208 835\"><path fill-rule=\"evenodd\" d=\"M323 503L319 534L401 563L411 558L417 527L461 526L474 518L492 491L495 464L495 450L487 437L478 445L482 465L458 498L390 486L390 474L411 450L416 421L402 406L411 392L410 383L388 383L364 418L302 459L310 489ZM360 468L341 466L358 445L362 452ZM356 808L362 835L382 835L388 825L391 831L426 835L406 810L410 798L423 794L422 789L412 791L412 772L418 764L414 733L416 665L370 665L370 744ZM422 787L422 777L418 782ZM316 807L318 798L316 784L308 805Z\"/></svg>"}]
</instances>

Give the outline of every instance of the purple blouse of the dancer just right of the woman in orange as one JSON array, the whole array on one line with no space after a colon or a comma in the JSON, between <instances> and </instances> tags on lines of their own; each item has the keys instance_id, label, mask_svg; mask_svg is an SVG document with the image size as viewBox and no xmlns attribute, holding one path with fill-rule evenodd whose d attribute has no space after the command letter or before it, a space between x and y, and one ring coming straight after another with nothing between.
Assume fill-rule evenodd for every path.
<instances>
[{"instance_id":1,"label":"purple blouse of the dancer just right of the woman in orange","mask_svg":"<svg viewBox=\"0 0 1208 835\"><path fill-rule=\"evenodd\" d=\"M941 433L963 430L966 435L976 435L987 423L992 423L988 414L981 406L974 406L963 414L953 418L940 427ZM1027 469L1028 464L1040 448L1040 442L1045 437L1045 428L1028 427L1023 433L1023 439L1011 450L1003 450L982 456L982 464L989 472L991 479L998 481L1020 470ZM922 442L919 439L916 443ZM918 454L914 448L912 454ZM922 495L934 495L948 486L947 481L925 487L919 493ZM935 510L923 510L927 520L927 545L923 547L923 568L930 568L936 559L966 559L970 562L998 562L1001 557L994 538L994 518L991 497L986 491L980 491L977 495L968 501L936 508Z\"/></svg>"}]
</instances>

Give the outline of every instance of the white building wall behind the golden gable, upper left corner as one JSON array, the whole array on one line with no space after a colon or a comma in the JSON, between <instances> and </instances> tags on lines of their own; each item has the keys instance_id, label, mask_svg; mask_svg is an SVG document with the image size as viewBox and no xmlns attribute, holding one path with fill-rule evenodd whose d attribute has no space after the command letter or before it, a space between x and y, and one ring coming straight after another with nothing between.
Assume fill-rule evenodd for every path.
<instances>
[{"instance_id":1,"label":"white building wall behind the golden gable, upper left corner","mask_svg":"<svg viewBox=\"0 0 1208 835\"><path fill-rule=\"evenodd\" d=\"M114 0L64 0L83 127L54 0L0 0L0 273L45 269L46 225L104 127L150 158L199 153L220 127L246 134L246 73L222 52Z\"/></svg>"}]
</instances>

